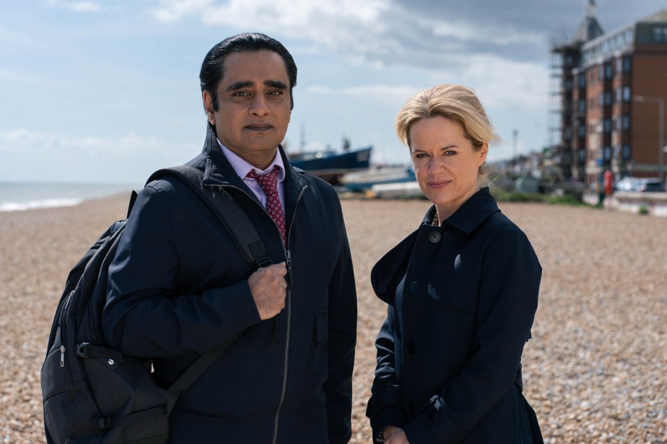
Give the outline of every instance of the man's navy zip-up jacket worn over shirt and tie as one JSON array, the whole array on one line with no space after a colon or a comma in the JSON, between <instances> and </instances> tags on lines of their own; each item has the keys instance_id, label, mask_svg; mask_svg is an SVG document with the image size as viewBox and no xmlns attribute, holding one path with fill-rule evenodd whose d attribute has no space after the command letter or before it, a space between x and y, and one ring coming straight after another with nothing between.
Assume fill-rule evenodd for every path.
<instances>
[{"instance_id":1,"label":"man's navy zip-up jacket worn over shirt and tie","mask_svg":"<svg viewBox=\"0 0 667 444\"><path fill-rule=\"evenodd\" d=\"M172 443L347 443L352 435L356 291L340 202L280 152L292 291L276 318L259 318L246 280L256 265L177 179L142 190L110 266L106 339L154 358L161 386L242 332L179 398ZM188 165L204 170L203 186L224 188L244 208L273 263L286 261L277 227L210 127Z\"/></svg>"}]
</instances>

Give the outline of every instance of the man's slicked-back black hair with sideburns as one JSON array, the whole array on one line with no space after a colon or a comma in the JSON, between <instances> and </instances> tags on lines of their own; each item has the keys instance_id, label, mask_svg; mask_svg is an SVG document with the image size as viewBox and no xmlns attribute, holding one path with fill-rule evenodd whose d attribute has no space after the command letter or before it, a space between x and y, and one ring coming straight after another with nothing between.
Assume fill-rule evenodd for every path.
<instances>
[{"instance_id":1,"label":"man's slicked-back black hair with sideburns","mask_svg":"<svg viewBox=\"0 0 667 444\"><path fill-rule=\"evenodd\" d=\"M290 79L290 109L294 108L294 97L292 88L297 84L297 65L294 63L292 54L283 44L268 35L261 33L243 33L232 35L216 44L211 51L208 51L204 62L201 63L199 72L199 83L201 83L201 92L204 90L211 94L213 101L213 110L217 111L217 84L224 76L224 60L229 54L251 52L251 51L273 51L281 56L285 62L288 79Z\"/></svg>"}]
</instances>

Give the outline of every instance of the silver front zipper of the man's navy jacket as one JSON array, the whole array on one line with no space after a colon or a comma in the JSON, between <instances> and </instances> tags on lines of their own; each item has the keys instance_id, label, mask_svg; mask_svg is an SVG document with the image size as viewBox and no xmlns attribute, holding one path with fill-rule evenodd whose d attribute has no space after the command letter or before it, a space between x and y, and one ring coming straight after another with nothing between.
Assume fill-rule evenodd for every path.
<instances>
[{"instance_id":1,"label":"silver front zipper of the man's navy jacket","mask_svg":"<svg viewBox=\"0 0 667 444\"><path fill-rule=\"evenodd\" d=\"M233 185L206 185L208 187L217 187L217 188L234 188L235 190L239 190L243 194L245 194L247 197L250 198L252 202L255 202L260 208L263 209L264 213L266 213L269 218L271 217L269 215L269 212L266 211L266 208L264 208L261 204L259 204L255 199L252 198L251 195L249 195L245 190L242 190L241 188L238 188L237 186ZM287 268L287 276L288 276L288 283L287 283L287 295L286 295L286 308L287 308L287 331L285 333L285 358L283 360L283 384L281 387L280 391L280 398L278 401L278 408L276 410L276 416L274 419L274 425L273 425L273 439L272 443L277 444L278 442L278 427L279 427L279 422L280 422L280 412L283 408L283 404L285 404L285 398L287 396L287 375L288 375L288 366L289 366L289 357L290 357L290 336L291 336L291 331L292 331L292 289L294 288L294 280L292 278L292 256L290 254L290 250L288 249L289 245L289 240L290 240L290 235L292 234L292 227L294 225L294 218L295 215L297 214L297 207L299 206L299 202L301 202L301 198L304 195L304 192L306 191L306 188L308 186L304 186L301 189L301 192L299 192L299 196L297 197L297 201L295 202L294 205L294 211L292 212L292 219L290 220L290 227L287 231L286 238L285 238L285 243L283 244L283 254L285 254L285 265ZM280 236L280 230L278 229L277 225L274 224L274 227L276 227L276 230L278 231L278 236ZM282 239L281 239L282 243Z\"/></svg>"}]
</instances>

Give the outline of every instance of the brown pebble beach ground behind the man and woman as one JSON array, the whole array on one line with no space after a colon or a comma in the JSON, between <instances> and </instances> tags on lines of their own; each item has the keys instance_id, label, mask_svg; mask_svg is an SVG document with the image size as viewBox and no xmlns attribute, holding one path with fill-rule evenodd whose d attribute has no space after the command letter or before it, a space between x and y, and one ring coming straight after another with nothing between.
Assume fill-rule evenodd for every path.
<instances>
[{"instance_id":1,"label":"brown pebble beach ground behind the man and woman","mask_svg":"<svg viewBox=\"0 0 667 444\"><path fill-rule=\"evenodd\" d=\"M386 307L370 268L418 226L425 201L345 200L359 293L352 443L364 416L374 338ZM545 443L667 443L667 220L627 213L501 204L543 266L525 395ZM39 373L69 268L124 215L126 198L0 213L0 442L44 443Z\"/></svg>"}]
</instances>

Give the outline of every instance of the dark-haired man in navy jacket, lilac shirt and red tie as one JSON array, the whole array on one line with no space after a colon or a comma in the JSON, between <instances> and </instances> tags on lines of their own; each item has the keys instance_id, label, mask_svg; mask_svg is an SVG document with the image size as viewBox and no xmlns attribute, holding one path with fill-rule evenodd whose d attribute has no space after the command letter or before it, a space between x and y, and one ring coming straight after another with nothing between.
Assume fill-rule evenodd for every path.
<instances>
[{"instance_id":1,"label":"dark-haired man in navy jacket, lilac shirt and red tie","mask_svg":"<svg viewBox=\"0 0 667 444\"><path fill-rule=\"evenodd\" d=\"M240 334L179 397L172 443L347 443L354 274L334 189L279 146L297 67L277 40L241 34L208 52L200 80L208 131L187 165L238 202L274 265L243 261L185 184L149 183L109 269L106 338L153 358L166 387Z\"/></svg>"}]
</instances>

